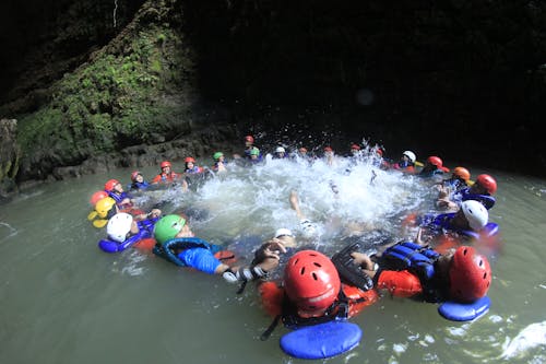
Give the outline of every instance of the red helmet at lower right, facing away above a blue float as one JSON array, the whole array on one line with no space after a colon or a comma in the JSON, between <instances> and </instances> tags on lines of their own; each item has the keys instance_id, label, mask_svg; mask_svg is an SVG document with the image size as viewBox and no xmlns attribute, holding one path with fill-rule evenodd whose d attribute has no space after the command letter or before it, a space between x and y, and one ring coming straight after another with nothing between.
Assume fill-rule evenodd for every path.
<instances>
[{"instance_id":1,"label":"red helmet at lower right, facing away above a blue float","mask_svg":"<svg viewBox=\"0 0 546 364\"><path fill-rule=\"evenodd\" d=\"M471 246L461 246L449 269L450 295L459 302L474 302L486 295L491 284L491 267Z\"/></svg>"}]
</instances>

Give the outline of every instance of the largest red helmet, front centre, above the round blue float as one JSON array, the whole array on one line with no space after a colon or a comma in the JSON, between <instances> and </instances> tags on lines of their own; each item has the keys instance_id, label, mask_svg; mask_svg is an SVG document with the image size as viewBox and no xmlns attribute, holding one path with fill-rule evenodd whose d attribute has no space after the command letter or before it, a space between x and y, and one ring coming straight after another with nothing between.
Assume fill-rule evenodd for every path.
<instances>
[{"instance_id":1,"label":"largest red helmet, front centre, above the round blue float","mask_svg":"<svg viewBox=\"0 0 546 364\"><path fill-rule=\"evenodd\" d=\"M298 251L288 260L284 284L298 309L310 314L330 307L341 289L332 260L316 250Z\"/></svg>"}]
</instances>

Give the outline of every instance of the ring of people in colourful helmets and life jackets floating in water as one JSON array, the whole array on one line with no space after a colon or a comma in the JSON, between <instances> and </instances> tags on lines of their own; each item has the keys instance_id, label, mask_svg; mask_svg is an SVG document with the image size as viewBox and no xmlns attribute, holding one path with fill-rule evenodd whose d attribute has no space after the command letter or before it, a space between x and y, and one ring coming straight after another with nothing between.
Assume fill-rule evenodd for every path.
<instances>
[{"instance_id":1,"label":"ring of people in colourful helmets and life jackets floating in water","mask_svg":"<svg viewBox=\"0 0 546 364\"><path fill-rule=\"evenodd\" d=\"M246 136L244 140L242 153L233 154L229 162L223 152L212 155L210 167L199 166L188 156L185 171L175 173L171 163L164 161L161 172L150 181L142 173L133 172L128 191L119 180L107 180L104 189L93 195L94 210L88 216L94 226L106 226L108 244L104 246L115 246L107 251L121 251L149 238L154 254L177 266L222 275L229 283L240 283L241 289L253 281L265 310L275 317L274 325L282 319L293 328L355 316L377 302L384 291L393 296L437 303L468 304L486 296L491 267L487 253L476 242L498 233L498 225L488 215L495 206L497 181L487 174L471 180L467 168L458 166L451 171L437 155L419 163L414 152L404 151L399 160L389 160L382 148L357 143L344 156L336 155L329 145L320 155L304 146L287 152L283 145L269 154L273 160L304 158L309 163L322 158L329 165L335 165L341 157L355 163L365 160L372 168L423 178L436 196L437 213L408 214L403 223L417 230L415 238L391 243L373 254L360 251L360 246L353 244L329 257L281 227L256 248L251 262L241 265L223 246L197 237L183 212L143 211L132 198L131 193L153 186L175 184L187 191L191 176L228 173L236 163L249 167L264 163L266 155L256 145L254 138ZM336 193L335 185L331 189ZM312 234L313 223L302 213L297 191L290 191L288 201L300 221L302 235ZM130 239L133 240L127 243Z\"/></svg>"}]
</instances>

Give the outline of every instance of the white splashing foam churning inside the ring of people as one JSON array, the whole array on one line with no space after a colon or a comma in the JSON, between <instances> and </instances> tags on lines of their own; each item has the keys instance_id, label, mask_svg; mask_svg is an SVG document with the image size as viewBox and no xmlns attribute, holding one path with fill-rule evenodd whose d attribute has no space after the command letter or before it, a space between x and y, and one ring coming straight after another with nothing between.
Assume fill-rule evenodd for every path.
<instances>
[{"instance_id":1,"label":"white splashing foam churning inside the ring of people","mask_svg":"<svg viewBox=\"0 0 546 364\"><path fill-rule=\"evenodd\" d=\"M161 199L170 203L164 213L187 213L198 236L218 243L240 235L270 238L280 227L301 237L289 204L290 191L296 191L316 227L314 244L328 250L349 235L382 232L402 238L401 216L419 209L425 189L417 178L382 171L366 155L357 161L337 156L333 165L268 155L262 164L232 163L227 173L192 179L188 192L171 189Z\"/></svg>"}]
</instances>

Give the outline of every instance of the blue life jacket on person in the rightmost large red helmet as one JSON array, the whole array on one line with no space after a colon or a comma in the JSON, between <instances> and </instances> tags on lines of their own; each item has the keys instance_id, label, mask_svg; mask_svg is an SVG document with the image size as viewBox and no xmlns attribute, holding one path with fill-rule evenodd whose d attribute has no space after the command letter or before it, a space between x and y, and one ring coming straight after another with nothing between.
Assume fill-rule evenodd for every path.
<instances>
[{"instance_id":1,"label":"blue life jacket on person in the rightmost large red helmet","mask_svg":"<svg viewBox=\"0 0 546 364\"><path fill-rule=\"evenodd\" d=\"M381 270L407 270L419 279L427 301L437 301L436 261L440 254L412 242L403 242L385 249L381 255Z\"/></svg>"}]
</instances>

